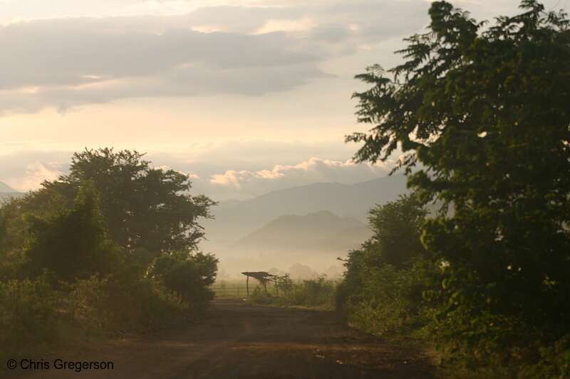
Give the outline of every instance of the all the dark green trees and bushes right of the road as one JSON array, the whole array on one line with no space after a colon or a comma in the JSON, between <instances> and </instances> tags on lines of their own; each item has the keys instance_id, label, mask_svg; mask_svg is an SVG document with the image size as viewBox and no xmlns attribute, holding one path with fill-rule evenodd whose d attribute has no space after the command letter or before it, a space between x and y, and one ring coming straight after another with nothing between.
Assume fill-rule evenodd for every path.
<instances>
[{"instance_id":1,"label":"all the dark green trees and bushes right of the road","mask_svg":"<svg viewBox=\"0 0 570 379\"><path fill-rule=\"evenodd\" d=\"M371 210L336 309L450 378L570 378L569 20L520 7L488 26L434 2L403 64L357 76L355 159L401 149L414 192Z\"/></svg>"}]
</instances>

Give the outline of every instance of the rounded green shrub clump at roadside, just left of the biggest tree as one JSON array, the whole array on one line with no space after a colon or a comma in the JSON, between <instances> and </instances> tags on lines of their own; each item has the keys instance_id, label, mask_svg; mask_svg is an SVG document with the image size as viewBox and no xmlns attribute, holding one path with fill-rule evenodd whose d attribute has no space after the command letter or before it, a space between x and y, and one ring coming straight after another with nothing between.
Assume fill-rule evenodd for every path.
<instances>
[{"instance_id":1,"label":"rounded green shrub clump at roadside, just left of the biggest tree","mask_svg":"<svg viewBox=\"0 0 570 379\"><path fill-rule=\"evenodd\" d=\"M373 237L348 253L336 309L353 326L383 336L417 332L430 320L423 299L433 270L420 243L427 211L414 194L377 205L368 218Z\"/></svg>"}]
</instances>

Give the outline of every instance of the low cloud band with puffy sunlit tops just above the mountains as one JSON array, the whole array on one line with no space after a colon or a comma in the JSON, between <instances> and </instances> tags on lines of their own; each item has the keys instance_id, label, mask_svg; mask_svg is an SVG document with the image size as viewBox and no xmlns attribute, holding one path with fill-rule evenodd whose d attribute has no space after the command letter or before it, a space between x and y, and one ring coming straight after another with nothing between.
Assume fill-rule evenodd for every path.
<instances>
[{"instance_id":1,"label":"low cloud band with puffy sunlit tops just above the mountains","mask_svg":"<svg viewBox=\"0 0 570 379\"><path fill-rule=\"evenodd\" d=\"M32 150L26 144L0 143L0 181L19 191L36 189L43 180L68 174L73 151L83 150L43 147ZM115 146L115 151L123 148ZM356 146L343 144L340 137L306 142L232 139L162 146L149 150L145 160L157 169L190 175L192 193L204 193L219 201L319 181L358 183L384 176L393 166L393 161L355 164L349 159L354 151ZM397 154L393 159L398 159Z\"/></svg>"}]
</instances>

